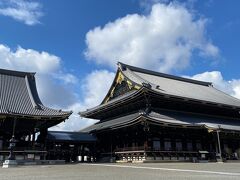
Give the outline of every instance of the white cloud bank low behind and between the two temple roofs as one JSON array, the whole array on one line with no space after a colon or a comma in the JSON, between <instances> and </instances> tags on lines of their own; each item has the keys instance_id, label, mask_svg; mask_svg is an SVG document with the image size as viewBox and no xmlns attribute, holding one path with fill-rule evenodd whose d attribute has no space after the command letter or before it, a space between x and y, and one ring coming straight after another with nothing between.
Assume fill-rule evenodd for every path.
<instances>
[{"instance_id":1,"label":"white cloud bank low behind and between the two temple roofs","mask_svg":"<svg viewBox=\"0 0 240 180\"><path fill-rule=\"evenodd\" d=\"M78 131L96 122L81 119L79 111L101 103L110 87L114 73L96 70L80 81L71 73L63 71L61 59L48 52L18 47L15 51L0 44L0 68L36 73L37 89L43 104L57 109L72 110L65 122L52 130ZM81 85L81 89L76 89ZM79 94L83 92L83 98Z\"/></svg>"}]
</instances>

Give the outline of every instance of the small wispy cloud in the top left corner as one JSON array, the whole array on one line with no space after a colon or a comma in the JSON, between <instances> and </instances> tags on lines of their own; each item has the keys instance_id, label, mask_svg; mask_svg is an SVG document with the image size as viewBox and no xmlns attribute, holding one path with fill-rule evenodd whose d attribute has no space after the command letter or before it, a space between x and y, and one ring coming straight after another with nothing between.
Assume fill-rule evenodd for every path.
<instances>
[{"instance_id":1,"label":"small wispy cloud in the top left corner","mask_svg":"<svg viewBox=\"0 0 240 180\"><path fill-rule=\"evenodd\" d=\"M0 15L9 16L26 25L40 23L43 16L42 5L39 2L28 0L1 0Z\"/></svg>"}]
</instances>

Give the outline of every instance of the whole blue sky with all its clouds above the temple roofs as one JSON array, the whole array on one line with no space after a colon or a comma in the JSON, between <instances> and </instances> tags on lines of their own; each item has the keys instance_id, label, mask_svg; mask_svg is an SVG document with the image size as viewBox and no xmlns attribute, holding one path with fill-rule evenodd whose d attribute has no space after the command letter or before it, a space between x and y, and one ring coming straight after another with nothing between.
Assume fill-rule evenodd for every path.
<instances>
[{"instance_id":1,"label":"whole blue sky with all its clouds above the temple roofs","mask_svg":"<svg viewBox=\"0 0 240 180\"><path fill-rule=\"evenodd\" d=\"M213 81L240 98L240 2L0 0L0 68L37 72L44 104L74 110L55 129L91 124L116 62Z\"/></svg>"}]
</instances>

